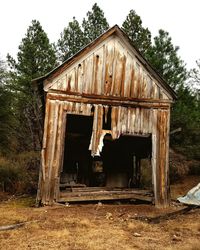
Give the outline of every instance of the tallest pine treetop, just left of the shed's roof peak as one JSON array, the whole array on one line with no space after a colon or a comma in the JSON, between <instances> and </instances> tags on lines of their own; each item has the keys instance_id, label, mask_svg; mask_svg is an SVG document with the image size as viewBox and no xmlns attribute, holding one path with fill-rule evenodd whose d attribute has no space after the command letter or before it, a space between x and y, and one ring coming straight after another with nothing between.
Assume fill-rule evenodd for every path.
<instances>
[{"instance_id":1,"label":"tallest pine treetop, just left of the shed's roof peak","mask_svg":"<svg viewBox=\"0 0 200 250\"><path fill-rule=\"evenodd\" d=\"M92 6L92 11L87 12L87 18L83 19L82 27L87 43L95 40L109 28L104 12L97 3Z\"/></svg>"}]
</instances>

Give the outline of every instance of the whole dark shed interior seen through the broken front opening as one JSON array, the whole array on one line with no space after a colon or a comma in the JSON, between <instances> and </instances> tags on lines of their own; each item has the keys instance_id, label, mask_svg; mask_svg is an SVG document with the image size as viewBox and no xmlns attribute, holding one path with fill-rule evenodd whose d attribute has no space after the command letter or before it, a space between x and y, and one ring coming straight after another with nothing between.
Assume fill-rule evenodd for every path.
<instances>
[{"instance_id":1,"label":"whole dark shed interior seen through the broken front opening","mask_svg":"<svg viewBox=\"0 0 200 250\"><path fill-rule=\"evenodd\" d=\"M106 134L101 155L92 157L88 148L93 116L67 115L66 124L61 186L141 187L144 170L141 163L143 159L150 163L151 136L122 135L113 140Z\"/></svg>"}]
</instances>

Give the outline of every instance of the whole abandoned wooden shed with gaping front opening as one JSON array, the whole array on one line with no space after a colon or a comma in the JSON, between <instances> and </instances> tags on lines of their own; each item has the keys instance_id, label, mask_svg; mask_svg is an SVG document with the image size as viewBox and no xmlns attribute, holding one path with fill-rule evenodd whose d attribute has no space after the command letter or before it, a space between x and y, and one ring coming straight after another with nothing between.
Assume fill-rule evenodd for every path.
<instances>
[{"instance_id":1,"label":"whole abandoned wooden shed with gaping front opening","mask_svg":"<svg viewBox=\"0 0 200 250\"><path fill-rule=\"evenodd\" d=\"M176 95L117 25L35 83L45 93L38 202L134 198L147 159L155 205L168 206Z\"/></svg>"}]
</instances>

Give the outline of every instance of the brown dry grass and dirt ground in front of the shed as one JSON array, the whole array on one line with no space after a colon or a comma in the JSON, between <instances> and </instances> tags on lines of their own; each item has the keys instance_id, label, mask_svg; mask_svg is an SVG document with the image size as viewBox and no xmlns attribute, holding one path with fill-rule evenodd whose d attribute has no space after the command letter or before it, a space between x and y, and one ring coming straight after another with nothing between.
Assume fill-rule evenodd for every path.
<instances>
[{"instance_id":1,"label":"brown dry grass and dirt ground in front of the shed","mask_svg":"<svg viewBox=\"0 0 200 250\"><path fill-rule=\"evenodd\" d=\"M190 176L171 186L172 198L184 195L199 182ZM0 249L200 249L200 209L158 224L139 221L181 209L156 209L151 204L93 203L32 207L34 197L0 195L0 226L26 222L0 231Z\"/></svg>"}]
</instances>

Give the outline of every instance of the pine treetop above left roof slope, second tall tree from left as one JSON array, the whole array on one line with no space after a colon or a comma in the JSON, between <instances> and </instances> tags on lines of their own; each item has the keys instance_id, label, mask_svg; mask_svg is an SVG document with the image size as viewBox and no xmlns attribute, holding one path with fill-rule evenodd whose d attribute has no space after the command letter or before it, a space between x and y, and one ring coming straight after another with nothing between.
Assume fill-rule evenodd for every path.
<instances>
[{"instance_id":1,"label":"pine treetop above left roof slope, second tall tree from left","mask_svg":"<svg viewBox=\"0 0 200 250\"><path fill-rule=\"evenodd\" d=\"M73 17L73 21L69 22L67 28L61 33L61 37L57 43L58 58L61 62L78 52L86 41L83 31L78 21Z\"/></svg>"}]
</instances>

